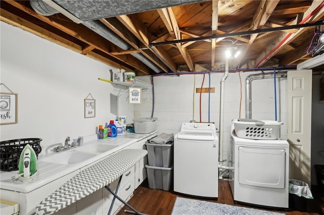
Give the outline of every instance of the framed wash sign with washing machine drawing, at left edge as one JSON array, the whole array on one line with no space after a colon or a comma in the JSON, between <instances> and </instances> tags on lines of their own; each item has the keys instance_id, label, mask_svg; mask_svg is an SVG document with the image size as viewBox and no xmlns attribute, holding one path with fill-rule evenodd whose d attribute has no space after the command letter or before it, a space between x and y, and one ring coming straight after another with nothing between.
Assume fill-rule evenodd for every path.
<instances>
[{"instance_id":1,"label":"framed wash sign with washing machine drawing, at left edge","mask_svg":"<svg viewBox=\"0 0 324 215\"><path fill-rule=\"evenodd\" d=\"M18 123L18 94L0 92L0 125Z\"/></svg>"}]
</instances>

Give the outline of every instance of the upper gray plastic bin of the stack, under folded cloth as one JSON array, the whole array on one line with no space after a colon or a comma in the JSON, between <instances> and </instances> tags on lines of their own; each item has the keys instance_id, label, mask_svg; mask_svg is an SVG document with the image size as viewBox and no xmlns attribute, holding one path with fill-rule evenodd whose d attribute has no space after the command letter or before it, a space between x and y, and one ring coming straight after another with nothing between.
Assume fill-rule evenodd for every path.
<instances>
[{"instance_id":1,"label":"upper gray plastic bin of the stack, under folded cloth","mask_svg":"<svg viewBox=\"0 0 324 215\"><path fill-rule=\"evenodd\" d=\"M171 167L173 164L173 143L145 143L148 165L154 167Z\"/></svg>"}]
</instances>

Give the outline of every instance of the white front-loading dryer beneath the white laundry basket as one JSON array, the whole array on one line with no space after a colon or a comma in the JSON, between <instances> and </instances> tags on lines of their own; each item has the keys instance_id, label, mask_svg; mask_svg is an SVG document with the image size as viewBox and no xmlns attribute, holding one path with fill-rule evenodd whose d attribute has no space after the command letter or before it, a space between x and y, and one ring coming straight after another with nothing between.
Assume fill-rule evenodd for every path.
<instances>
[{"instance_id":1,"label":"white front-loading dryer beneath the white laundry basket","mask_svg":"<svg viewBox=\"0 0 324 215\"><path fill-rule=\"evenodd\" d=\"M239 203L289 207L289 143L239 138L232 126L230 188Z\"/></svg>"}]
</instances>

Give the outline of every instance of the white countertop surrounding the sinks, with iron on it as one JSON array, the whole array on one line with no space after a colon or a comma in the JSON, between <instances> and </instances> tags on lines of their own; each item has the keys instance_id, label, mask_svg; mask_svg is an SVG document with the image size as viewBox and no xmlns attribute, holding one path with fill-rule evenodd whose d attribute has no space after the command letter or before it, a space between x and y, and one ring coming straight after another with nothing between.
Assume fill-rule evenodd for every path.
<instances>
[{"instance_id":1,"label":"white countertop surrounding the sinks, with iron on it","mask_svg":"<svg viewBox=\"0 0 324 215\"><path fill-rule=\"evenodd\" d=\"M115 145L116 147L75 164L64 165L58 163L42 162L42 159L48 156L57 155L58 153L76 151L78 150L78 147L83 147L83 146L76 146L75 148L68 149L66 151L61 151L61 152L51 152L47 154L41 153L38 155L39 176L35 182L23 183L20 180L13 181L11 177L17 175L18 171L11 171L11 172L0 171L1 174L0 189L28 193L56 179L59 179L69 173L77 171L89 164L93 165L99 160L105 158L106 156L116 151L119 151L120 149L123 149L132 143L142 140L145 137L150 136L151 134L154 134L154 132L148 134L135 134L135 133L127 132L123 135L118 135L117 137L108 137L105 139L97 139L96 135L94 135L95 138L93 137L85 138L85 142L83 146L100 143L100 144L111 144L111 145Z\"/></svg>"}]
</instances>

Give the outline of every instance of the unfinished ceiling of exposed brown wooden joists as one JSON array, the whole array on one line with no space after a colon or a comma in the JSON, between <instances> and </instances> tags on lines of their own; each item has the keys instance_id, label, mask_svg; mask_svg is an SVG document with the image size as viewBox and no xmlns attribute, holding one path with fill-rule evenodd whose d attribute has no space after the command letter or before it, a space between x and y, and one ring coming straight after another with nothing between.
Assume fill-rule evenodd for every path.
<instances>
[{"instance_id":1,"label":"unfinished ceiling of exposed brown wooden joists","mask_svg":"<svg viewBox=\"0 0 324 215\"><path fill-rule=\"evenodd\" d=\"M229 45L242 51L237 64L231 66L239 62L251 66L255 62L254 67L276 67L305 61L313 55L306 53L313 42L314 27L310 26L323 25L323 2L194 1L95 20L103 23L102 30L112 31L129 48L118 47L109 37L100 36L89 25L74 23L60 12L42 16L29 1L2 1L0 18L115 68L154 75L156 70L194 71L201 68L200 64L208 70L219 69Z\"/></svg>"}]
</instances>

